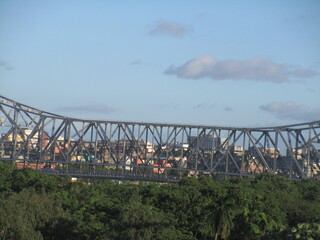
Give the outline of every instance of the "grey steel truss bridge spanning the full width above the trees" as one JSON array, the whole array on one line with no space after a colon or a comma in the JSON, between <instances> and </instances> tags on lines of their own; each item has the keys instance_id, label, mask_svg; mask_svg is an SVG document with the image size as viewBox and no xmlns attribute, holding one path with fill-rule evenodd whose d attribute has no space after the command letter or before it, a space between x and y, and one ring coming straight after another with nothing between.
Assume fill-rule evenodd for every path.
<instances>
[{"instance_id":1,"label":"grey steel truss bridge spanning the full width above the trees","mask_svg":"<svg viewBox=\"0 0 320 240\"><path fill-rule=\"evenodd\" d=\"M47 174L176 182L185 176L320 177L320 120L235 128L83 120L0 96L0 161Z\"/></svg>"}]
</instances>

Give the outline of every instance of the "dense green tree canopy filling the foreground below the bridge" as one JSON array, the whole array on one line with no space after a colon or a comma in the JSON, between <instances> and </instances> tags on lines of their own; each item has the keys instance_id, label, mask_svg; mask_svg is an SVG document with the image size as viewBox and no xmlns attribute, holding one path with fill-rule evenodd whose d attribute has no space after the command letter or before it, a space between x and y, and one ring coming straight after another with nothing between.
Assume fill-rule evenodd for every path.
<instances>
[{"instance_id":1,"label":"dense green tree canopy filling the foreground below the bridge","mask_svg":"<svg viewBox=\"0 0 320 240\"><path fill-rule=\"evenodd\" d=\"M320 182L71 183L0 164L0 239L320 239Z\"/></svg>"}]
</instances>

